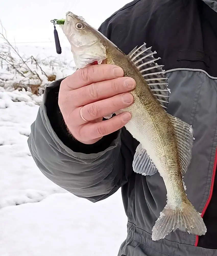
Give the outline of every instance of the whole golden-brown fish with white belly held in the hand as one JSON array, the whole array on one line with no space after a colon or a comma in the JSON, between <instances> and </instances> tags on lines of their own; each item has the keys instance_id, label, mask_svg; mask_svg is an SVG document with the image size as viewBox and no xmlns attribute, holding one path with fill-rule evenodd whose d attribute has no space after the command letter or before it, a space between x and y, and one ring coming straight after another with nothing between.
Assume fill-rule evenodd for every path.
<instances>
[{"instance_id":1,"label":"whole golden-brown fish with white belly held in the hand","mask_svg":"<svg viewBox=\"0 0 217 256\"><path fill-rule=\"evenodd\" d=\"M187 198L183 181L192 158L193 129L166 111L171 92L163 65L157 64L160 57L154 57L156 51L143 43L126 55L83 17L72 12L66 13L60 26L70 42L78 69L93 62L114 64L124 70L124 76L136 81L135 89L130 92L133 103L115 114L131 113L125 127L139 142L132 163L134 172L144 176L158 172L166 187L166 205L152 228L152 240L164 239L177 229L204 235L206 225Z\"/></svg>"}]
</instances>

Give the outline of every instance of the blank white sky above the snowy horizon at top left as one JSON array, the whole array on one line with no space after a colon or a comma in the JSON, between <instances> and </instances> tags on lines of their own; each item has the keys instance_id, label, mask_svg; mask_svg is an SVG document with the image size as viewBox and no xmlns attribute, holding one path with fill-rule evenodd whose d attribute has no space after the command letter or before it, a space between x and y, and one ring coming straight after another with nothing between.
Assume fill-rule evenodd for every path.
<instances>
[{"instance_id":1,"label":"blank white sky above the snowy horizon at top left","mask_svg":"<svg viewBox=\"0 0 217 256\"><path fill-rule=\"evenodd\" d=\"M65 18L71 11L98 28L130 0L0 0L0 19L10 42L54 41L51 19ZM61 45L68 45L57 28ZM1 40L1 39L0 39Z\"/></svg>"}]
</instances>

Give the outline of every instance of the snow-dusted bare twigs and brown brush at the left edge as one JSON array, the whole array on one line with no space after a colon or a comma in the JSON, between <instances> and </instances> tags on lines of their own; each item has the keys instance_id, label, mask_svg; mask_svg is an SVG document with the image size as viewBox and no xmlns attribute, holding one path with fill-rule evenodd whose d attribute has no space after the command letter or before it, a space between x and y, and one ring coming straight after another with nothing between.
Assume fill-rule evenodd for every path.
<instances>
[{"instance_id":1,"label":"snow-dusted bare twigs and brown brush at the left edge","mask_svg":"<svg viewBox=\"0 0 217 256\"><path fill-rule=\"evenodd\" d=\"M57 67L62 68L63 66L60 66L57 59L52 56L42 60L38 56L30 56L28 58L25 55L22 56L16 46L15 39L15 45L9 42L1 20L0 38L5 42L3 45L0 45L0 68L5 68L10 72L10 74L6 72L6 76L0 77L0 86L5 87L5 89L12 87L15 90L22 90L24 88L28 91L31 90L33 94L41 95L45 87L50 82L56 80L56 75L53 73L54 69ZM67 65L68 63L63 64ZM49 70L51 71L48 74L43 70L42 67L44 66L50 67ZM7 79L8 75L9 79ZM47 78L47 83L43 80L44 76Z\"/></svg>"}]
</instances>

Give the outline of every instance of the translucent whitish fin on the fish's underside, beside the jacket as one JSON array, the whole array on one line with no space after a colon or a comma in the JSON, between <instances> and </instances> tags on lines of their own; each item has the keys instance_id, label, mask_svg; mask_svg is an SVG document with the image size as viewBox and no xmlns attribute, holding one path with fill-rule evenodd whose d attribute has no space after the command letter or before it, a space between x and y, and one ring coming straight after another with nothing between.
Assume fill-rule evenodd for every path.
<instances>
[{"instance_id":1,"label":"translucent whitish fin on the fish's underside, beside the jacket","mask_svg":"<svg viewBox=\"0 0 217 256\"><path fill-rule=\"evenodd\" d=\"M155 164L147 154L147 151L142 148L141 143L136 148L132 167L135 173L142 175L153 175L158 171Z\"/></svg>"}]
</instances>

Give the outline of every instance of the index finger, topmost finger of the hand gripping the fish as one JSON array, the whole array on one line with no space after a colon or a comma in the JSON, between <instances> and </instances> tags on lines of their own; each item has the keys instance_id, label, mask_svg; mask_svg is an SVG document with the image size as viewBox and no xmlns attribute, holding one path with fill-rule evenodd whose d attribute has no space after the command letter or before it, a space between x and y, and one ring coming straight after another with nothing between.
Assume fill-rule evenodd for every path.
<instances>
[{"instance_id":1,"label":"index finger, topmost finger of the hand gripping the fish","mask_svg":"<svg viewBox=\"0 0 217 256\"><path fill-rule=\"evenodd\" d=\"M112 64L91 65L78 69L75 73L66 77L61 85L66 90L74 90L92 83L123 76L124 71L119 66Z\"/></svg>"}]
</instances>

